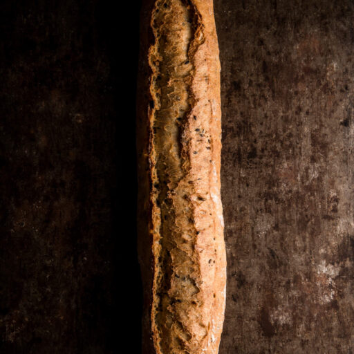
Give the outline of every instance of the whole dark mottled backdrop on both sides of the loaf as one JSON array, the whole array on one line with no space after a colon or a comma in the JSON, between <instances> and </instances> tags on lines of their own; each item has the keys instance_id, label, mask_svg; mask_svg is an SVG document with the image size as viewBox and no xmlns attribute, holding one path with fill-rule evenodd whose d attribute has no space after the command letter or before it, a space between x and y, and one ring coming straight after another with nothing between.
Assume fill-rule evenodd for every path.
<instances>
[{"instance_id":1,"label":"whole dark mottled backdrop on both sides of the loaf","mask_svg":"<svg viewBox=\"0 0 354 354\"><path fill-rule=\"evenodd\" d=\"M140 352L139 5L0 3L0 353ZM214 8L220 354L353 353L353 3Z\"/></svg>"}]
</instances>

